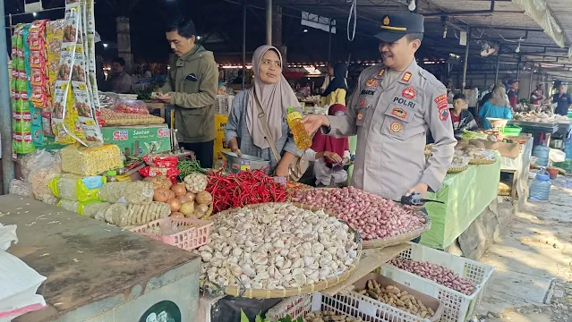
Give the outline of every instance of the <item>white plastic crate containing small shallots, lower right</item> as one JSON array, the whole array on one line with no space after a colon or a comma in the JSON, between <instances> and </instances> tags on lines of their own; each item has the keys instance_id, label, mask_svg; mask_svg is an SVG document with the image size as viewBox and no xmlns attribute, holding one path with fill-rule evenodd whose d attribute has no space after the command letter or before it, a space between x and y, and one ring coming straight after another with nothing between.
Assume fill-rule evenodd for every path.
<instances>
[{"instance_id":1,"label":"white plastic crate containing small shallots, lower right","mask_svg":"<svg viewBox=\"0 0 572 322\"><path fill-rule=\"evenodd\" d=\"M444 308L440 322L465 322L471 318L474 308L482 299L485 284L491 277L494 267L415 243L410 242L410 245L411 249L403 251L399 257L448 267L476 284L473 294L465 295L389 264L381 267L381 275L438 299Z\"/></svg>"}]
</instances>

